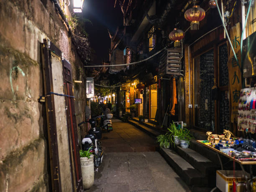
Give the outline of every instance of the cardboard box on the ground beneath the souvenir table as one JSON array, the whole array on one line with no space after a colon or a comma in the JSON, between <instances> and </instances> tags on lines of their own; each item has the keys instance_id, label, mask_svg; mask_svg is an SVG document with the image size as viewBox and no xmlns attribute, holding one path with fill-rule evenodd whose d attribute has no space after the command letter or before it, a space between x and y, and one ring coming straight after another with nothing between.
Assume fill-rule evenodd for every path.
<instances>
[{"instance_id":1,"label":"cardboard box on the ground beneath the souvenir table","mask_svg":"<svg viewBox=\"0 0 256 192\"><path fill-rule=\"evenodd\" d=\"M222 192L233 192L233 170L217 170L216 171L216 187ZM250 174L246 173L250 178ZM243 171L235 171L235 181L237 183L236 191L244 192L243 183L246 181Z\"/></svg>"}]
</instances>

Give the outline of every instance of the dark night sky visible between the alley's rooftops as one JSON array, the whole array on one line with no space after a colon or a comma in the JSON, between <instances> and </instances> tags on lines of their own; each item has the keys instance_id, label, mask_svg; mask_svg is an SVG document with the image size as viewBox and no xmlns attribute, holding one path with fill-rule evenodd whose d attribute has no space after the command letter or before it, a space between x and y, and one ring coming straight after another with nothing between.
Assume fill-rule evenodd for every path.
<instances>
[{"instance_id":1,"label":"dark night sky visible between the alley's rooftops","mask_svg":"<svg viewBox=\"0 0 256 192\"><path fill-rule=\"evenodd\" d=\"M92 22L86 23L85 29L92 48L92 64L102 64L103 60L109 61L108 29L113 34L118 26L123 25L119 1L117 0L115 8L114 4L115 0L85 0L82 15Z\"/></svg>"}]
</instances>

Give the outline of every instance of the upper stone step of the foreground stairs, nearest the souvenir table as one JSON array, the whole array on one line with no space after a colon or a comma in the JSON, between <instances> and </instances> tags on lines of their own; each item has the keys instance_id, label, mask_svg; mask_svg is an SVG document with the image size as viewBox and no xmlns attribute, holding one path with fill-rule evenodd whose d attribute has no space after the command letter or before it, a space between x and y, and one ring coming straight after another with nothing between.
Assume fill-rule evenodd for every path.
<instances>
[{"instance_id":1,"label":"upper stone step of the foreground stairs, nearest the souvenir table","mask_svg":"<svg viewBox=\"0 0 256 192\"><path fill-rule=\"evenodd\" d=\"M183 159L189 162L189 164L195 167L200 173L202 173L202 175L207 178L208 187L215 186L216 170L220 169L218 165L192 149L177 147L176 151Z\"/></svg>"}]
</instances>

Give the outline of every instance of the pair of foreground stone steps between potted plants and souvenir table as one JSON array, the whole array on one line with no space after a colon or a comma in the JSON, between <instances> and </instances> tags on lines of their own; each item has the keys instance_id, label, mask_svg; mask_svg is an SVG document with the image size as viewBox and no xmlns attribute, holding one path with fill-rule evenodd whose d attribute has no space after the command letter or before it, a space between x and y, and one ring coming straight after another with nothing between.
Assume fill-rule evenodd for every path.
<instances>
[{"instance_id":1,"label":"pair of foreground stone steps between potted plants and souvenir table","mask_svg":"<svg viewBox=\"0 0 256 192\"><path fill-rule=\"evenodd\" d=\"M160 153L192 192L210 192L215 187L216 170L220 167L210 159L191 148L176 147L175 151L161 148Z\"/></svg>"}]
</instances>

